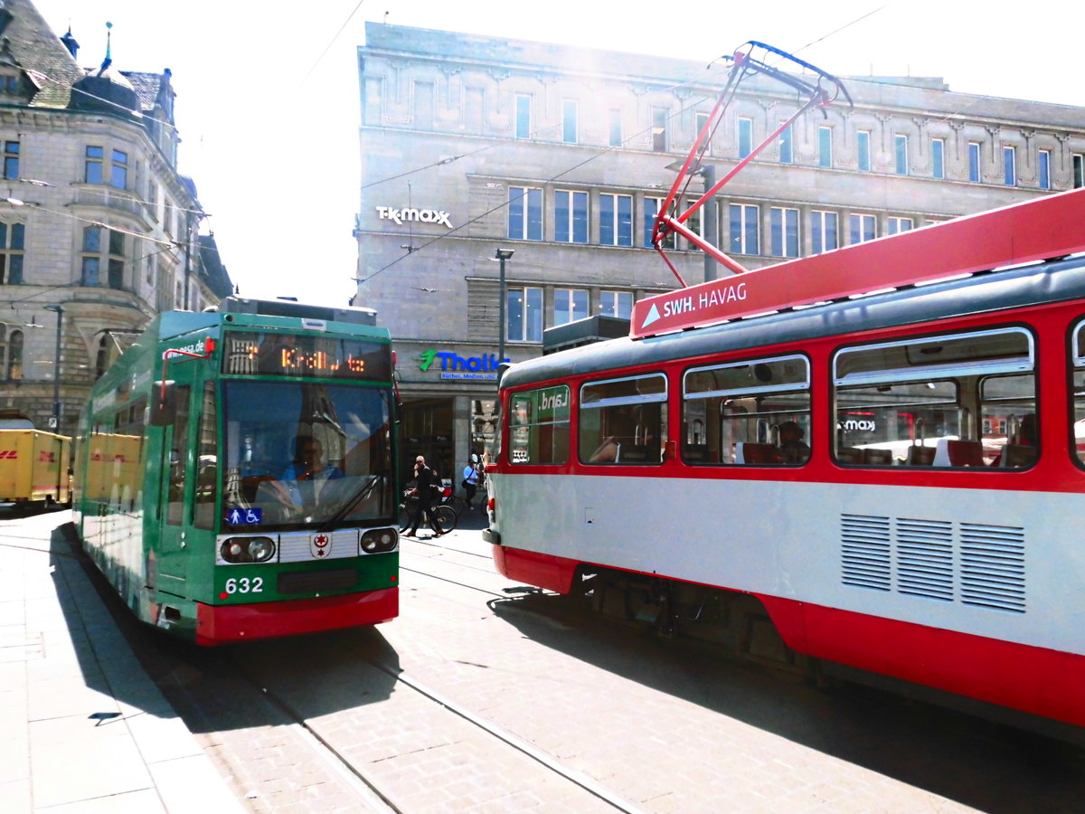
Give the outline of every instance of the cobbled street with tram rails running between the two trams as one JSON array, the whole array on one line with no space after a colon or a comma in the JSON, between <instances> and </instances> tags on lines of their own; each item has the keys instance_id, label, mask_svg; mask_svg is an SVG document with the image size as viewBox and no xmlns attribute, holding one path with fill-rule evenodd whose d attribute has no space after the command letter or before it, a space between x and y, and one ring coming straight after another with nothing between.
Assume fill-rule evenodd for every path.
<instances>
[{"instance_id":1,"label":"cobbled street with tram rails running between the two trams","mask_svg":"<svg viewBox=\"0 0 1085 814\"><path fill-rule=\"evenodd\" d=\"M1081 749L524 595L478 525L404 542L386 625L215 650L129 638L255 812L614 811L600 789L644 812L1080 810Z\"/></svg>"}]
</instances>

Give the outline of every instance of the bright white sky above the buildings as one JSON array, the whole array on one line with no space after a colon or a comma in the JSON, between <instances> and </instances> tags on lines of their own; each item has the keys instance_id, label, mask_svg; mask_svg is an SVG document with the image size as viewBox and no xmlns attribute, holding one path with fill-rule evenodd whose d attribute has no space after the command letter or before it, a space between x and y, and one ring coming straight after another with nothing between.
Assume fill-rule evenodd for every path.
<instances>
[{"instance_id":1,"label":"bright white sky above the buildings","mask_svg":"<svg viewBox=\"0 0 1085 814\"><path fill-rule=\"evenodd\" d=\"M355 290L366 21L705 64L755 39L838 76L941 76L953 90L1085 105L1065 35L1085 21L1076 5L1052 17L955 0L35 2L58 34L71 25L80 65L101 63L111 22L117 67L173 71L179 169L242 295L328 305Z\"/></svg>"}]
</instances>

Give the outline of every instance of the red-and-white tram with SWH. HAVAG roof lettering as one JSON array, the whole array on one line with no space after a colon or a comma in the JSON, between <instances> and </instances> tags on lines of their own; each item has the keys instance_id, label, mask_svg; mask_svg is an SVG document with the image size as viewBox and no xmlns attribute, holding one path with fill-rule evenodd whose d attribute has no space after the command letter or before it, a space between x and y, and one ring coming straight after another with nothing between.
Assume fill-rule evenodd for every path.
<instances>
[{"instance_id":1,"label":"red-and-white tram with SWH. HAVAG roof lettering","mask_svg":"<svg viewBox=\"0 0 1085 814\"><path fill-rule=\"evenodd\" d=\"M499 571L1085 726L1082 224L1085 190L729 276L512 366Z\"/></svg>"}]
</instances>

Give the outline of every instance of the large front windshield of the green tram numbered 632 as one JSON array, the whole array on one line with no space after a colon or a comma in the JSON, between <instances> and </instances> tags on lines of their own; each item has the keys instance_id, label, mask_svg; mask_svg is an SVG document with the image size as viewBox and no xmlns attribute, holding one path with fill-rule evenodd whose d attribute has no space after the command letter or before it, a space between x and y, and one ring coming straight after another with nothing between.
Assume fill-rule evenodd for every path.
<instances>
[{"instance_id":1,"label":"large front windshield of the green tram numbered 632","mask_svg":"<svg viewBox=\"0 0 1085 814\"><path fill-rule=\"evenodd\" d=\"M357 384L222 382L221 529L394 518L391 399L386 387Z\"/></svg>"}]
</instances>

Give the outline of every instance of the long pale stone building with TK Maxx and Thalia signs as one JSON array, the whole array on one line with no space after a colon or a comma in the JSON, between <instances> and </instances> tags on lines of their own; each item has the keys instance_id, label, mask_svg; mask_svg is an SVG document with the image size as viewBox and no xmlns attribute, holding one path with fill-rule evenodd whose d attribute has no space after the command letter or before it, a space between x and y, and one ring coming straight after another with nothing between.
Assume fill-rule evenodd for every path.
<instances>
[{"instance_id":1,"label":"long pale stone building with TK Maxx and Thalia signs","mask_svg":"<svg viewBox=\"0 0 1085 814\"><path fill-rule=\"evenodd\" d=\"M650 247L652 221L727 65L385 24L367 26L358 56L355 302L396 340L405 454L448 476L492 443L502 344L525 359L547 328L628 317L634 301L676 287ZM688 226L757 268L1085 180L1081 107L956 93L935 78L844 84L854 105L799 119ZM804 101L765 77L743 85L694 191ZM688 282L730 274L671 240ZM512 253L503 326L498 250Z\"/></svg>"}]
</instances>

